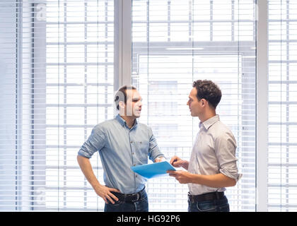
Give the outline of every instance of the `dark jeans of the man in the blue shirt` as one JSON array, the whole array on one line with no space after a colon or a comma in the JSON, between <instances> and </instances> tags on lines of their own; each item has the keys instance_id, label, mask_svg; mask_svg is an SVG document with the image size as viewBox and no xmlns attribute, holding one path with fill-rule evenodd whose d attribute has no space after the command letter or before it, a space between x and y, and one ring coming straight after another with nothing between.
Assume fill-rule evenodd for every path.
<instances>
[{"instance_id":1,"label":"dark jeans of the man in the blue shirt","mask_svg":"<svg viewBox=\"0 0 297 226\"><path fill-rule=\"evenodd\" d=\"M105 203L104 212L148 212L148 196L141 192L141 198L136 202L116 201L115 204Z\"/></svg>"}]
</instances>

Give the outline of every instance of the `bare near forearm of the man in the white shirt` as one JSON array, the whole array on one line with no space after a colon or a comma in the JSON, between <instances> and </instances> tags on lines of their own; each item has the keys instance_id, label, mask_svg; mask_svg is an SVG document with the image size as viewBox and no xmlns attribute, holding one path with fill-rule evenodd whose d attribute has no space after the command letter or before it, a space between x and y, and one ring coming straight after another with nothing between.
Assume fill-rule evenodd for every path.
<instances>
[{"instance_id":1,"label":"bare near forearm of the man in the white shirt","mask_svg":"<svg viewBox=\"0 0 297 226\"><path fill-rule=\"evenodd\" d=\"M202 184L213 188L222 188L227 186L235 186L236 181L235 179L227 177L221 173L214 175L191 174L190 183Z\"/></svg>"}]
</instances>

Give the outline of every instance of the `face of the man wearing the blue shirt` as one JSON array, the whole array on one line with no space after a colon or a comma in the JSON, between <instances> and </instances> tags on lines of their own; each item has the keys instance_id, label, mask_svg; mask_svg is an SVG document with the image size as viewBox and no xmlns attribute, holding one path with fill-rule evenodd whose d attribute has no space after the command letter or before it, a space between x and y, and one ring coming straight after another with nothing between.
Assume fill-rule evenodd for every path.
<instances>
[{"instance_id":1,"label":"face of the man wearing the blue shirt","mask_svg":"<svg viewBox=\"0 0 297 226\"><path fill-rule=\"evenodd\" d=\"M137 90L127 90L126 116L139 118L141 114L141 95Z\"/></svg>"}]
</instances>

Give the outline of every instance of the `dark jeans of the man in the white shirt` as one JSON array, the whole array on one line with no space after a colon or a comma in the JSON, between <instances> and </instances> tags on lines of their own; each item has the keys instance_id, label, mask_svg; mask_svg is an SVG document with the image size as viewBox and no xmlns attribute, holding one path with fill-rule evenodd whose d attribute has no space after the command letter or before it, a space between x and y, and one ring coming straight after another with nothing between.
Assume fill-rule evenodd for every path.
<instances>
[{"instance_id":1,"label":"dark jeans of the man in the white shirt","mask_svg":"<svg viewBox=\"0 0 297 226\"><path fill-rule=\"evenodd\" d=\"M187 202L189 204L187 209L189 212L230 212L226 196L211 201L191 202L188 200Z\"/></svg>"}]
</instances>

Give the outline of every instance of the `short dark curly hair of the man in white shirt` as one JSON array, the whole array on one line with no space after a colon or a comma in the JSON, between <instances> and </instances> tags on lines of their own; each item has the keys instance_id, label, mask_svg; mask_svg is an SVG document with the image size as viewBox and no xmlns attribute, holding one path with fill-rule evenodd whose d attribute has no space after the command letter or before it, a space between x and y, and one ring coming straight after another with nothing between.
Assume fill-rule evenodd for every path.
<instances>
[{"instance_id":1,"label":"short dark curly hair of the man in white shirt","mask_svg":"<svg viewBox=\"0 0 297 226\"><path fill-rule=\"evenodd\" d=\"M221 101L222 93L218 85L210 80L194 81L193 87L197 90L198 100L205 99L216 109Z\"/></svg>"}]
</instances>

